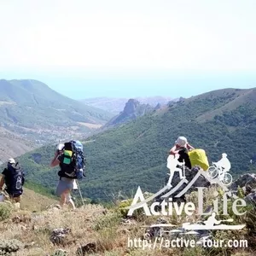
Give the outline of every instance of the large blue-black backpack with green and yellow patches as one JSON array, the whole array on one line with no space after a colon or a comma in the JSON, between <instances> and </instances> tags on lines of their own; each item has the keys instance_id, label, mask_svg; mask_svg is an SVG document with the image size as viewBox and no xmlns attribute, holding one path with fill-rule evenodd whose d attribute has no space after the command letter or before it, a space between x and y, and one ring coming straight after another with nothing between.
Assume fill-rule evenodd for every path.
<instances>
[{"instance_id":1,"label":"large blue-black backpack with green and yellow patches","mask_svg":"<svg viewBox=\"0 0 256 256\"><path fill-rule=\"evenodd\" d=\"M84 152L83 144L79 141L64 143L64 151L61 155L61 172L66 177L82 179L84 176Z\"/></svg>"}]
</instances>

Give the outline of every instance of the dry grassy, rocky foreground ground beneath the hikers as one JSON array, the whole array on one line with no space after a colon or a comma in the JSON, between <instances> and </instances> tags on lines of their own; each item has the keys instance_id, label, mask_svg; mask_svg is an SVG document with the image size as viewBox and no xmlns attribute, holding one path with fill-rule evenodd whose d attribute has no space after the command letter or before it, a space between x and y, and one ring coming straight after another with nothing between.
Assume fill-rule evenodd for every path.
<instances>
[{"instance_id":1,"label":"dry grassy, rocky foreground ground beneath the hikers","mask_svg":"<svg viewBox=\"0 0 256 256\"><path fill-rule=\"evenodd\" d=\"M31 208L23 205L22 210L16 210L9 203L0 203L0 255L17 256L146 256L146 255L185 255L185 256L213 256L213 255L256 255L256 211L255 195L256 176L245 174L234 183L232 190L236 195L247 199L247 214L234 218L236 223L247 224L244 230L238 231L204 231L187 232L184 234L182 224L201 221L201 217L166 216L146 217L136 214L127 218L124 211L124 201L117 206L105 208L100 205L85 205L77 210L60 209L56 201L44 198L44 208ZM207 189L206 202L211 206L212 197L219 188L215 185ZM26 193L27 194L27 193ZM25 199L32 201L37 195L30 195ZM25 200L24 199L24 200ZM186 195L186 201L195 201L195 191ZM38 197L38 204L43 198ZM161 229L153 224L172 224L169 229ZM179 231L179 232L177 232ZM212 239L247 239L247 248L213 248L205 249L200 245L195 248L156 247L143 249L129 247L129 239L141 238L154 241L156 237L189 238L200 241L209 236ZM157 245L160 241L157 242Z\"/></svg>"}]
</instances>

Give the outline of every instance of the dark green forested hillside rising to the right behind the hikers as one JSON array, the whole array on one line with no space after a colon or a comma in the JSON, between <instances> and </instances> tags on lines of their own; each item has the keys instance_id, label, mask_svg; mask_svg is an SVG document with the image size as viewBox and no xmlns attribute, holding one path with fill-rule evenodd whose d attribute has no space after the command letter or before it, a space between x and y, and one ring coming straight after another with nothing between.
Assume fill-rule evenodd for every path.
<instances>
[{"instance_id":1,"label":"dark green forested hillside rising to the right behind the hikers","mask_svg":"<svg viewBox=\"0 0 256 256\"><path fill-rule=\"evenodd\" d=\"M113 130L88 138L86 197L108 201L119 190L130 195L140 185L155 192L165 182L166 157L178 136L204 148L209 161L227 153L233 176L256 171L256 89L216 90L148 113ZM49 169L55 148L38 148L21 157L27 177L53 188L57 169ZM250 160L253 159L253 165Z\"/></svg>"}]
</instances>

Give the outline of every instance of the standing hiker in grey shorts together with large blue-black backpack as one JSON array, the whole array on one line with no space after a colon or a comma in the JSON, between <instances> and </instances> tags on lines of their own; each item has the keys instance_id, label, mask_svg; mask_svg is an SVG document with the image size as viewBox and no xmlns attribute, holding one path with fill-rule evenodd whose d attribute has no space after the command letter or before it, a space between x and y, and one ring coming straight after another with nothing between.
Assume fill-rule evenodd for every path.
<instances>
[{"instance_id":1,"label":"standing hiker in grey shorts together with large blue-black backpack","mask_svg":"<svg viewBox=\"0 0 256 256\"><path fill-rule=\"evenodd\" d=\"M58 175L60 177L56 194L61 197L60 205L70 205L75 209L74 202L71 197L72 189L76 189L76 179L84 176L84 152L83 144L79 141L70 141L69 143L59 144L55 157L50 162L51 167L60 166Z\"/></svg>"}]
</instances>

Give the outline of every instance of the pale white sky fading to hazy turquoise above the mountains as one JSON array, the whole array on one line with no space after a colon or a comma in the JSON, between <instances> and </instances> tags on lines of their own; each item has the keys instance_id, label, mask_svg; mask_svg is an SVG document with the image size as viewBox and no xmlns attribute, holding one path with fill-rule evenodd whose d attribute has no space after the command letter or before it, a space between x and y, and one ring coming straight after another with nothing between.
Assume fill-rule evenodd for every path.
<instances>
[{"instance_id":1,"label":"pale white sky fading to hazy turquoise above the mountains","mask_svg":"<svg viewBox=\"0 0 256 256\"><path fill-rule=\"evenodd\" d=\"M0 79L73 98L256 87L254 0L0 0Z\"/></svg>"}]
</instances>

